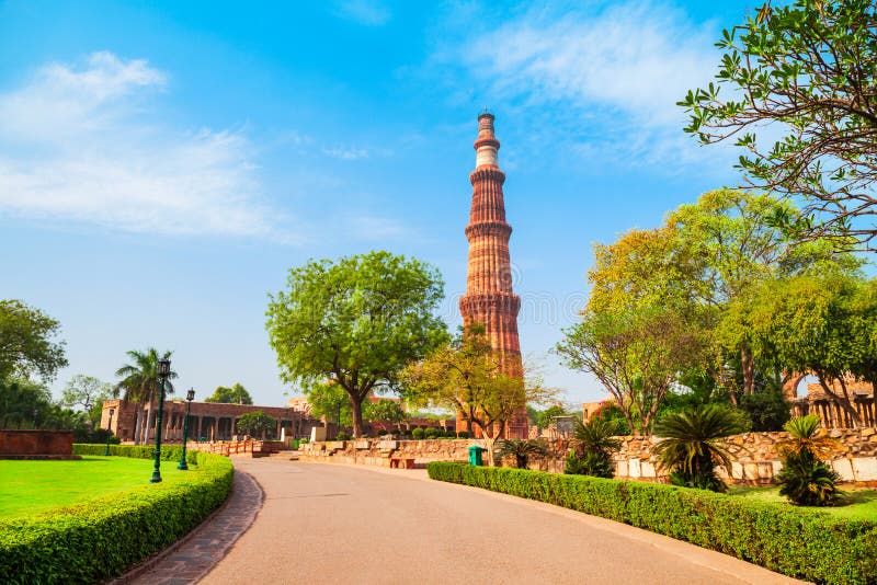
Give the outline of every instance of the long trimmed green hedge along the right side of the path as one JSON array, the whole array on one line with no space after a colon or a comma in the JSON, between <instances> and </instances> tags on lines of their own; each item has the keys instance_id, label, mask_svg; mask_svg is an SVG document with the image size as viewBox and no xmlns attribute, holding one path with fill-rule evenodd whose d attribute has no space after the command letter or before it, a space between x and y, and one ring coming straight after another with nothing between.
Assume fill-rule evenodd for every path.
<instances>
[{"instance_id":1,"label":"long trimmed green hedge along the right side of the path","mask_svg":"<svg viewBox=\"0 0 877 585\"><path fill-rule=\"evenodd\" d=\"M877 583L877 525L656 483L432 462L433 480L483 487L686 540L817 583Z\"/></svg>"}]
</instances>

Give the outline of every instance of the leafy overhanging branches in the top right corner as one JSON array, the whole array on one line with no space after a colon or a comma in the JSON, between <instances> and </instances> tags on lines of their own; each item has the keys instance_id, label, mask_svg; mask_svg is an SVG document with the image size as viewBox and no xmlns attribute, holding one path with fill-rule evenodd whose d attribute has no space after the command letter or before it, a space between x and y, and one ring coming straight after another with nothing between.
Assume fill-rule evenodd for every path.
<instances>
[{"instance_id":1,"label":"leafy overhanging branches in the top right corner","mask_svg":"<svg viewBox=\"0 0 877 585\"><path fill-rule=\"evenodd\" d=\"M717 46L724 51L718 82L679 102L691 116L685 131L704 145L733 138L747 152L737 167L750 184L802 196L802 215L777 209L773 216L794 237L877 250L874 2L767 2L724 31ZM782 134L766 146L759 129Z\"/></svg>"}]
</instances>

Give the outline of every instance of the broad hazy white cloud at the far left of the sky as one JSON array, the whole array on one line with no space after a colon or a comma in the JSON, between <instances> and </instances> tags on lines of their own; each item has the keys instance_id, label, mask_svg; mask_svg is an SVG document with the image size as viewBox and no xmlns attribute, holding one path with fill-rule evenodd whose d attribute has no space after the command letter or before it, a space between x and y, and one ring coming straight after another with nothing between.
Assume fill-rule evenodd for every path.
<instances>
[{"instance_id":1,"label":"broad hazy white cloud at the far left of the sky","mask_svg":"<svg viewBox=\"0 0 877 585\"><path fill-rule=\"evenodd\" d=\"M126 231L274 238L241 130L179 130L150 101L167 76L95 53L0 94L0 210Z\"/></svg>"}]
</instances>

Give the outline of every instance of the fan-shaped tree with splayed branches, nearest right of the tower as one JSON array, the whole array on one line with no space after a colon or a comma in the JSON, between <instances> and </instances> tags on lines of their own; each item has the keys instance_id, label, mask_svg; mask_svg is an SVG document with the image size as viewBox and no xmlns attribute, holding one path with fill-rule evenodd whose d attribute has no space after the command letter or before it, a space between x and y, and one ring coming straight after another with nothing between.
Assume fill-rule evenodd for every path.
<instances>
[{"instance_id":1,"label":"fan-shaped tree with splayed branches, nearest right of the tower","mask_svg":"<svg viewBox=\"0 0 877 585\"><path fill-rule=\"evenodd\" d=\"M593 374L615 399L630 429L648 435L680 371L695 364L701 342L677 313L636 308L597 313L565 331L557 352L567 366Z\"/></svg>"}]
</instances>

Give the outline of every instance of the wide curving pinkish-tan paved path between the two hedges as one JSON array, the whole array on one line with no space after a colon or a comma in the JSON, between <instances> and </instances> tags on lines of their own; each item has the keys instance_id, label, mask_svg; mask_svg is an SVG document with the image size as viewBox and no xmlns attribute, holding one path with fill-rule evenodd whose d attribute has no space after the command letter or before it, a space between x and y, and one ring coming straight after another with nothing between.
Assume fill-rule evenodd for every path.
<instances>
[{"instance_id":1,"label":"wide curving pinkish-tan paved path between the two hedges","mask_svg":"<svg viewBox=\"0 0 877 585\"><path fill-rule=\"evenodd\" d=\"M611 520L384 470L236 461L265 492L201 583L795 583Z\"/></svg>"}]
</instances>

